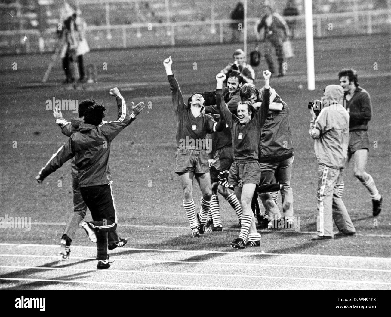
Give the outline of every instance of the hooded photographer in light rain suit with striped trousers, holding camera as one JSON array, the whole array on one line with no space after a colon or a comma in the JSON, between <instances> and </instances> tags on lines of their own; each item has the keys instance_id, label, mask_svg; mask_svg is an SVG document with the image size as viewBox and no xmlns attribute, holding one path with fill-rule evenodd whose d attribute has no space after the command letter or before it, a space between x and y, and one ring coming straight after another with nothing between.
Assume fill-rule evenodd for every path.
<instances>
[{"instance_id":1,"label":"hooded photographer in light rain suit with striped trousers, holding camera","mask_svg":"<svg viewBox=\"0 0 391 317\"><path fill-rule=\"evenodd\" d=\"M315 155L319 163L317 187L317 236L311 240L334 238L333 219L340 236L355 234L355 227L342 201L342 171L348 155L349 113L341 104L343 88L325 88L320 112L308 104L312 120L309 133L315 140ZM317 102L316 102L317 103Z\"/></svg>"}]
</instances>

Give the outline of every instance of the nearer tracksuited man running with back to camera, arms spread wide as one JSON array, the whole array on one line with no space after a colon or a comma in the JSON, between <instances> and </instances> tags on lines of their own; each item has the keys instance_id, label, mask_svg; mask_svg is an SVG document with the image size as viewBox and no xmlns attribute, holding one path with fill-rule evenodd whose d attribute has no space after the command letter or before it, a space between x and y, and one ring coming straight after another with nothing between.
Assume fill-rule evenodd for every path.
<instances>
[{"instance_id":1,"label":"nearer tracksuited man running with back to camera, arms spread wide","mask_svg":"<svg viewBox=\"0 0 391 317\"><path fill-rule=\"evenodd\" d=\"M129 115L118 88L111 89L110 94L117 99L117 120L100 124L104 118L105 107L102 104L88 107L79 131L72 134L68 142L57 150L36 177L39 183L42 182L66 161L75 157L80 193L93 218L92 222L83 222L82 227L90 240L97 243L98 269L110 267L107 233L114 232L117 228L117 213L108 167L110 143L144 108L143 102L133 105L133 112Z\"/></svg>"}]
</instances>

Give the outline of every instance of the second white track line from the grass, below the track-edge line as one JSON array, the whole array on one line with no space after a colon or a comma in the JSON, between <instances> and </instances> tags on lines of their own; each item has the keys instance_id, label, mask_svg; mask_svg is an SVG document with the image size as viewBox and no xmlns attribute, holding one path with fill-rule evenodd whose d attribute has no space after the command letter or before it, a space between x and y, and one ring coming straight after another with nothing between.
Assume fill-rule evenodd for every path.
<instances>
[{"instance_id":1,"label":"second white track line from the grass, below the track-edge line","mask_svg":"<svg viewBox=\"0 0 391 317\"><path fill-rule=\"evenodd\" d=\"M16 258L57 258L58 256L42 256L42 255L31 255L31 254L2 254L3 257L16 257ZM94 260L95 258L84 258L84 257L72 257L77 260ZM347 271L368 271L368 272L384 272L389 273L391 270L381 270L374 268L349 268L349 267L319 267L310 265L288 265L288 264L261 264L261 263L243 263L243 262L200 262L200 261L173 261L173 260L143 260L143 259L122 259L116 258L118 261L127 262L147 262L147 263L180 263L180 264L203 264L203 265L228 265L228 266L251 266L251 267L286 267L286 268L319 268L327 270L347 270ZM77 263L75 263L77 264ZM4 266L0 266L4 267ZM43 267L45 268L45 267Z\"/></svg>"}]
</instances>

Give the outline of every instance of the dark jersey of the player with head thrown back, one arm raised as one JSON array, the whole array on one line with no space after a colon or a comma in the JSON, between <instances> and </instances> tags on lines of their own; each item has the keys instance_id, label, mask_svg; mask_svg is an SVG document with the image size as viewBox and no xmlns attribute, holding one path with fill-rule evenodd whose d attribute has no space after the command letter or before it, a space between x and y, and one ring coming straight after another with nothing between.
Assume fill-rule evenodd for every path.
<instances>
[{"instance_id":1,"label":"dark jersey of the player with head thrown back, one arm raised","mask_svg":"<svg viewBox=\"0 0 391 317\"><path fill-rule=\"evenodd\" d=\"M181 149L196 149L205 151L206 133L213 133L215 121L210 115L199 115L194 117L187 109L178 81L174 75L167 76L170 83L172 104L177 115L176 121L176 146Z\"/></svg>"}]
</instances>

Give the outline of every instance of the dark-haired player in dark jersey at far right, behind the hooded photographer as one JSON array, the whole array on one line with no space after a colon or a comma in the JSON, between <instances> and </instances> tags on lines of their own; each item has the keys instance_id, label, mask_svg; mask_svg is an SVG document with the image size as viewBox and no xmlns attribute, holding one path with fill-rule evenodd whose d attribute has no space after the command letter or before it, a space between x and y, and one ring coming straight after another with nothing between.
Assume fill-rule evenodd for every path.
<instances>
[{"instance_id":1,"label":"dark-haired player in dark jersey at far right, behind the hooded photographer","mask_svg":"<svg viewBox=\"0 0 391 317\"><path fill-rule=\"evenodd\" d=\"M348 159L353 158L354 176L371 193L372 214L377 216L382 211L383 198L372 176L365 171L369 151L368 121L372 117L371 97L359 86L357 72L353 68L341 70L338 78L339 85L344 89L346 110L350 115ZM343 191L344 184L341 183L341 186Z\"/></svg>"}]
</instances>

